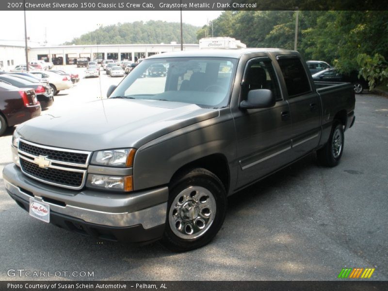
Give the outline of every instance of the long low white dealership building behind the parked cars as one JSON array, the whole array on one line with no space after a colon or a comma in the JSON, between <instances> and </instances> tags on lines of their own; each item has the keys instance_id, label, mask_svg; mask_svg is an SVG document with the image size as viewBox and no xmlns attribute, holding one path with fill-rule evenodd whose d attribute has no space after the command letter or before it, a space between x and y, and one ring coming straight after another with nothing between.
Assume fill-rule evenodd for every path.
<instances>
[{"instance_id":1,"label":"long low white dealership building behind the parked cars","mask_svg":"<svg viewBox=\"0 0 388 291\"><path fill-rule=\"evenodd\" d=\"M24 64L24 42L0 43L0 68L7 71L16 65ZM199 49L198 44L184 44L183 50ZM77 58L89 60L128 60L136 62L154 54L180 50L180 44L142 44L142 45L70 45L70 46L28 46L28 59L46 60L54 65L71 65Z\"/></svg>"}]
</instances>

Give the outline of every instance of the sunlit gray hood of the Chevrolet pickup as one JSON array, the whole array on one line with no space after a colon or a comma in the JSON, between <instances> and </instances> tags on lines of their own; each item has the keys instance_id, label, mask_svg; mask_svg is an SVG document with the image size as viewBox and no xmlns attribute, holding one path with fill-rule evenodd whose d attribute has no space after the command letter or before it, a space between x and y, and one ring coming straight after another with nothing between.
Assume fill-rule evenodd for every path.
<instances>
[{"instance_id":1,"label":"sunlit gray hood of the Chevrolet pickup","mask_svg":"<svg viewBox=\"0 0 388 291\"><path fill-rule=\"evenodd\" d=\"M79 150L135 147L219 115L218 109L159 100L106 99L33 118L17 130L25 140Z\"/></svg>"}]
</instances>

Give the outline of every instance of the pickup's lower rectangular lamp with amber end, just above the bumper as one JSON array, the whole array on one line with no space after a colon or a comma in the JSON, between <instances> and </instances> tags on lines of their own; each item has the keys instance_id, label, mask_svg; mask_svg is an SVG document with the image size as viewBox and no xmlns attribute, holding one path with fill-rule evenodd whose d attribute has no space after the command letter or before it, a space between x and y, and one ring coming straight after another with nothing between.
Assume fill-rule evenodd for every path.
<instances>
[{"instance_id":1,"label":"pickup's lower rectangular lamp with amber end, just above the bumper","mask_svg":"<svg viewBox=\"0 0 388 291\"><path fill-rule=\"evenodd\" d=\"M101 190L115 190L125 192L133 190L132 176L118 177L89 174L86 186Z\"/></svg>"}]
</instances>

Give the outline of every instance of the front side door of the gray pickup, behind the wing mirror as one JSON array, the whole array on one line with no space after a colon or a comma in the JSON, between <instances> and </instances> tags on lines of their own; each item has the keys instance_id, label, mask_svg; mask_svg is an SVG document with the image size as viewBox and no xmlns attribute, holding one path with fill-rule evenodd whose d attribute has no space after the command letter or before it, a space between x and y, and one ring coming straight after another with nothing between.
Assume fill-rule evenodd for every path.
<instances>
[{"instance_id":1,"label":"front side door of the gray pickup, behind the wing mirror","mask_svg":"<svg viewBox=\"0 0 388 291\"><path fill-rule=\"evenodd\" d=\"M291 150L290 107L281 95L271 59L259 57L249 60L241 86L240 102L246 99L249 90L269 89L276 97L276 104L270 108L232 112L239 162L236 189L290 161Z\"/></svg>"}]
</instances>

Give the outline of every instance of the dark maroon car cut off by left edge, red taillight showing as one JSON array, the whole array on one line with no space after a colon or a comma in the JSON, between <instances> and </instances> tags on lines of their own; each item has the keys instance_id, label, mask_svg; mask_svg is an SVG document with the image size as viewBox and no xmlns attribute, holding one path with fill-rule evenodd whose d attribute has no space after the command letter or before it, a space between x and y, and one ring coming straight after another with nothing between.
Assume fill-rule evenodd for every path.
<instances>
[{"instance_id":1,"label":"dark maroon car cut off by left edge, red taillight showing","mask_svg":"<svg viewBox=\"0 0 388 291\"><path fill-rule=\"evenodd\" d=\"M40 112L34 90L20 89L0 81L0 135L10 126L39 116Z\"/></svg>"}]
</instances>

